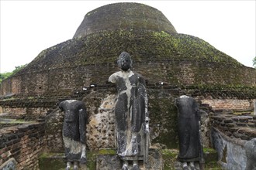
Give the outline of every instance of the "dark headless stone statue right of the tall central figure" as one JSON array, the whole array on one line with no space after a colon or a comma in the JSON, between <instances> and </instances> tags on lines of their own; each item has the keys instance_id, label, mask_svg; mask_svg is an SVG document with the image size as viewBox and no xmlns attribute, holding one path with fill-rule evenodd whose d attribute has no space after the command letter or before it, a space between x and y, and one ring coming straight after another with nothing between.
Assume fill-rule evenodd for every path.
<instances>
[{"instance_id":1,"label":"dark headless stone statue right of the tall central figure","mask_svg":"<svg viewBox=\"0 0 256 170\"><path fill-rule=\"evenodd\" d=\"M178 108L178 161L182 162L183 169L189 169L188 164L192 169L203 169L198 104L194 98L185 95L178 97L175 103Z\"/></svg>"}]
</instances>

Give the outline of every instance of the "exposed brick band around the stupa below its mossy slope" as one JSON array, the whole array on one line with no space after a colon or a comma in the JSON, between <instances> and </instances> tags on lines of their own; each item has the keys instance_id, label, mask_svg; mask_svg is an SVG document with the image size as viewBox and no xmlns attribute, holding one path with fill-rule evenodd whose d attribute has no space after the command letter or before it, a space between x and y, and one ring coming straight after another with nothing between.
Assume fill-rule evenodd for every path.
<instances>
[{"instance_id":1,"label":"exposed brick band around the stupa below its mossy slope","mask_svg":"<svg viewBox=\"0 0 256 170\"><path fill-rule=\"evenodd\" d=\"M134 63L138 73L144 75L149 83L168 82L178 85L197 85L199 83L214 86L214 83L226 84L233 83L233 78L227 75L214 73L196 73L197 71L191 65L203 65L205 63L189 62L169 62L169 63ZM211 70L218 70L216 64L211 64ZM115 73L118 69L116 64L95 64L88 66L78 66L76 68L60 68L50 72L35 73L33 75L19 75L4 80L1 84L2 97L66 97L74 91L88 87L91 83L97 83L99 86L104 85L109 75ZM221 70L220 70L221 71ZM223 70L224 71L224 70ZM247 70L240 70L248 73ZM249 70L248 70L249 71ZM213 75L209 75L213 74ZM232 73L230 73L232 74ZM235 76L236 73L234 73ZM25 79L26 77L26 79ZM14 83L16 85L14 85ZM253 83L245 85L253 85Z\"/></svg>"}]
</instances>

